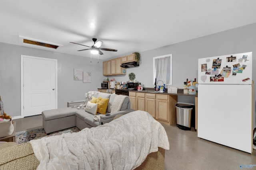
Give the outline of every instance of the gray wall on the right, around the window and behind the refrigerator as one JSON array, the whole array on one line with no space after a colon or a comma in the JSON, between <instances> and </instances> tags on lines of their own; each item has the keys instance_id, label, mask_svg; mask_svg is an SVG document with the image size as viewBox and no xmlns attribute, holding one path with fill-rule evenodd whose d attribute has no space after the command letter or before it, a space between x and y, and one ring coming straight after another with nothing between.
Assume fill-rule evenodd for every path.
<instances>
[{"instance_id":1,"label":"gray wall on the right, around the window and behind the refrigerator","mask_svg":"<svg viewBox=\"0 0 256 170\"><path fill-rule=\"evenodd\" d=\"M171 38L171 37L166 37ZM168 45L158 49L141 52L141 64L139 67L128 68L125 80L128 80L128 74L134 72L136 80L142 82L145 87L154 87L153 78L153 57L172 54L172 86L183 87L182 82L189 80L198 80L198 59L205 57L215 57L220 55L229 55L252 51L253 67L252 78L256 81L256 23L215 33L212 35L199 37L189 41ZM221 97L221 96L220 96ZM231 100L231 99L230 99ZM256 85L254 85L254 127L256 125L255 106L256 106ZM179 96L178 102L194 104L193 97ZM242 107L242 106L240 106Z\"/></svg>"}]
</instances>

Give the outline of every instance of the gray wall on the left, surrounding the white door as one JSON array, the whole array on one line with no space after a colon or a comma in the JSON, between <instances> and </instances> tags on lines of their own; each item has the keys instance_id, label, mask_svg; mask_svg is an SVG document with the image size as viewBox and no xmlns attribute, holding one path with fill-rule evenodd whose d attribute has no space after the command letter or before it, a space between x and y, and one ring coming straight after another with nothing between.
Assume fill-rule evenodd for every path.
<instances>
[{"instance_id":1,"label":"gray wall on the left, surrounding the white door","mask_svg":"<svg viewBox=\"0 0 256 170\"><path fill-rule=\"evenodd\" d=\"M20 55L57 59L58 108L66 107L67 101L84 99L84 94L100 88L102 60L80 57L52 51L0 43L0 95L4 111L12 117L20 116ZM91 83L74 80L74 68L92 72Z\"/></svg>"}]
</instances>

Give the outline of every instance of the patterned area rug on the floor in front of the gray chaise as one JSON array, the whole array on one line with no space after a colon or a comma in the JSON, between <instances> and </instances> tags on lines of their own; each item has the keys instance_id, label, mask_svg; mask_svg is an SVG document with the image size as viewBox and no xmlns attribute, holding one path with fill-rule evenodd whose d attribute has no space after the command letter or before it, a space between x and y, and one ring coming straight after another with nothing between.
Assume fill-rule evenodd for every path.
<instances>
[{"instance_id":1,"label":"patterned area rug on the floor in front of the gray chaise","mask_svg":"<svg viewBox=\"0 0 256 170\"><path fill-rule=\"evenodd\" d=\"M62 133L74 133L79 131L80 129L78 129L77 127L72 127L61 131L52 132L47 135L43 127L38 127L35 129L15 133L15 141L17 143L27 143L32 139L40 139L42 137L61 135Z\"/></svg>"}]
</instances>

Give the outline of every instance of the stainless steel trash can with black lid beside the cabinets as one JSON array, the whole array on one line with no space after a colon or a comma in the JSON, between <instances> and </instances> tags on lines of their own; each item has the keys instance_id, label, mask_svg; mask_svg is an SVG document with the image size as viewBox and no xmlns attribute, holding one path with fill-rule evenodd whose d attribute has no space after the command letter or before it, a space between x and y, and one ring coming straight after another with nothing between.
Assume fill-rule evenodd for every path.
<instances>
[{"instance_id":1,"label":"stainless steel trash can with black lid beside the cabinets","mask_svg":"<svg viewBox=\"0 0 256 170\"><path fill-rule=\"evenodd\" d=\"M191 130L193 106L190 104L176 104L176 125L182 130Z\"/></svg>"}]
</instances>

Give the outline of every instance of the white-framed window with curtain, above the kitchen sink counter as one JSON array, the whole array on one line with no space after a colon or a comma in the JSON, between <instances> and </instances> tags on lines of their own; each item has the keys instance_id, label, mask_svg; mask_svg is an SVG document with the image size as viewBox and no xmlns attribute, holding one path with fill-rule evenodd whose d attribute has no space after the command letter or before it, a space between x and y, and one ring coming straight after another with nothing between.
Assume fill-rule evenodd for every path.
<instances>
[{"instance_id":1,"label":"white-framed window with curtain, above the kitchen sink counter","mask_svg":"<svg viewBox=\"0 0 256 170\"><path fill-rule=\"evenodd\" d=\"M153 84L172 85L172 54L153 57Z\"/></svg>"}]
</instances>

